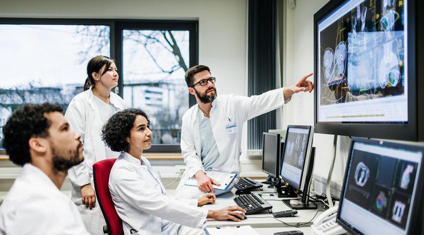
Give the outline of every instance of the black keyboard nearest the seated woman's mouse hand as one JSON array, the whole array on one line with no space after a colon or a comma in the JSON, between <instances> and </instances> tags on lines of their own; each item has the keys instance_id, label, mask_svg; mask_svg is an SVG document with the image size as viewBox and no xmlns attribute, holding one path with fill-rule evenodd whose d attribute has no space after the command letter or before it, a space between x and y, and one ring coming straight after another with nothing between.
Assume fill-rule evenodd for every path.
<instances>
[{"instance_id":1,"label":"black keyboard nearest the seated woman's mouse hand","mask_svg":"<svg viewBox=\"0 0 424 235\"><path fill-rule=\"evenodd\" d=\"M266 211L272 208L271 204L263 200L259 195L246 194L240 195L234 198L234 202L244 210L246 210L245 215L255 214L261 211Z\"/></svg>"}]
</instances>

